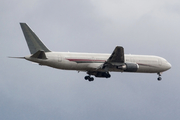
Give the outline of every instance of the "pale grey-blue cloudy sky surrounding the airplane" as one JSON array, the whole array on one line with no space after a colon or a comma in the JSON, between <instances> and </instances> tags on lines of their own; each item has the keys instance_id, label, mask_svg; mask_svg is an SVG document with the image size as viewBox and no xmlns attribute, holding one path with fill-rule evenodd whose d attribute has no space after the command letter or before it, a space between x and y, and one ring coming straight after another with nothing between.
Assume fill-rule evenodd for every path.
<instances>
[{"instance_id":1,"label":"pale grey-blue cloudy sky surrounding the airplane","mask_svg":"<svg viewBox=\"0 0 180 120\"><path fill-rule=\"evenodd\" d=\"M1 120L179 120L179 0L1 0ZM157 55L172 68L156 74L85 73L43 67L7 56L29 50L26 22L52 51Z\"/></svg>"}]
</instances>

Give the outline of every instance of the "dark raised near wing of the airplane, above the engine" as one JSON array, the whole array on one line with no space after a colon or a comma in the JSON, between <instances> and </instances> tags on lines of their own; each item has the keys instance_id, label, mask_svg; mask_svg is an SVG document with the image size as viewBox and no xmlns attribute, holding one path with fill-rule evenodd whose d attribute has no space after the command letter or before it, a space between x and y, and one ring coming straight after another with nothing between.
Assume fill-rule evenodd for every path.
<instances>
[{"instance_id":1,"label":"dark raised near wing of the airplane, above the engine","mask_svg":"<svg viewBox=\"0 0 180 120\"><path fill-rule=\"evenodd\" d=\"M117 46L108 60L100 65L97 70L122 65L124 63L124 48Z\"/></svg>"}]
</instances>

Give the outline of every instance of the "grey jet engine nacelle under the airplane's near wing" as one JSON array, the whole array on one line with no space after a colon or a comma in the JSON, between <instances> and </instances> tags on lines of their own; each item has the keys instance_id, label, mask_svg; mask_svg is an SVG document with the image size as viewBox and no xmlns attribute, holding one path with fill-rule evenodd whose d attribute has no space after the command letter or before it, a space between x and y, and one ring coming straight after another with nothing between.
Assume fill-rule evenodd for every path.
<instances>
[{"instance_id":1,"label":"grey jet engine nacelle under the airplane's near wing","mask_svg":"<svg viewBox=\"0 0 180 120\"><path fill-rule=\"evenodd\" d=\"M139 65L136 63L124 63L123 65L117 66L117 69L125 72L136 72L139 69Z\"/></svg>"}]
</instances>

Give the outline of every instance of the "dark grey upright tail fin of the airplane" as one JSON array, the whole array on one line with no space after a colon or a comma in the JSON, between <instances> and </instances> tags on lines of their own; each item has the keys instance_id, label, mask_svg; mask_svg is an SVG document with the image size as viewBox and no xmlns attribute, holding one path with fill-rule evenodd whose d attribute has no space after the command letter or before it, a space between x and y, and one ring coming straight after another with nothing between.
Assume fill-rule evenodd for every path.
<instances>
[{"instance_id":1,"label":"dark grey upright tail fin of the airplane","mask_svg":"<svg viewBox=\"0 0 180 120\"><path fill-rule=\"evenodd\" d=\"M26 23L20 23L20 25L31 54L37 51L51 52Z\"/></svg>"}]
</instances>

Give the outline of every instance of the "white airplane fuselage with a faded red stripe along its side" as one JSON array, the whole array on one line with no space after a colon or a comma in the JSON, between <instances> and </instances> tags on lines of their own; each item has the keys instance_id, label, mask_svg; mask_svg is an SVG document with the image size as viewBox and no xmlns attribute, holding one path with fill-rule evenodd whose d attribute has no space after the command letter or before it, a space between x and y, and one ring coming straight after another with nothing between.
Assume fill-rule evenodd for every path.
<instances>
[{"instance_id":1,"label":"white airplane fuselage with a faded red stripe along its side","mask_svg":"<svg viewBox=\"0 0 180 120\"><path fill-rule=\"evenodd\" d=\"M77 71L96 71L111 54L99 53L71 53L71 52L46 52L47 59L37 59L30 56L25 59L37 62L53 68ZM171 68L171 64L164 58L150 55L124 55L125 63L136 63L139 68L137 72L160 73ZM100 69L98 71L104 71ZM123 72L116 68L108 71Z\"/></svg>"}]
</instances>

